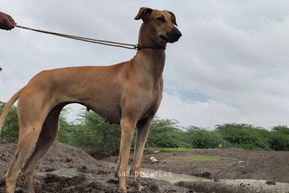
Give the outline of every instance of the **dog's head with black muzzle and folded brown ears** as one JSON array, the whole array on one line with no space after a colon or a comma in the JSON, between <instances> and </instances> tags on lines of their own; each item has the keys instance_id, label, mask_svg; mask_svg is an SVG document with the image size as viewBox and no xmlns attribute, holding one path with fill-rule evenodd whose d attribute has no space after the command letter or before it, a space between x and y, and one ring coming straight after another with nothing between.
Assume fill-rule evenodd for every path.
<instances>
[{"instance_id":1,"label":"dog's head with black muzzle and folded brown ears","mask_svg":"<svg viewBox=\"0 0 289 193\"><path fill-rule=\"evenodd\" d=\"M181 32L176 27L176 16L171 11L142 7L134 19L142 19L155 43L174 43L181 37Z\"/></svg>"}]
</instances>

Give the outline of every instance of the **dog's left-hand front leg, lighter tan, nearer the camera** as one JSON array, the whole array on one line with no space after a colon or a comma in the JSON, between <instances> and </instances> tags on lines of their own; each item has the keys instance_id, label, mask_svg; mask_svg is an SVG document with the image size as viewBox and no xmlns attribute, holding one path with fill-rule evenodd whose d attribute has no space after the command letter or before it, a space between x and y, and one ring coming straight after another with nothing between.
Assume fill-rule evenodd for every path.
<instances>
[{"instance_id":1,"label":"dog's left-hand front leg, lighter tan, nearer the camera","mask_svg":"<svg viewBox=\"0 0 289 193\"><path fill-rule=\"evenodd\" d=\"M118 166L115 173L118 177L118 191L121 193L127 192L125 177L127 175L129 151L135 128L136 115L123 116L121 118L121 145L119 149Z\"/></svg>"}]
</instances>

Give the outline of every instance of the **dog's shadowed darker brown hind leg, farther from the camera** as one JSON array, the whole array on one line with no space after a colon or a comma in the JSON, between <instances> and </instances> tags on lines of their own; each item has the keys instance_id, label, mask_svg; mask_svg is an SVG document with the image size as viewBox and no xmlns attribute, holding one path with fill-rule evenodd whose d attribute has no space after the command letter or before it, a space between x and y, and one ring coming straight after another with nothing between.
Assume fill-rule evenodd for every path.
<instances>
[{"instance_id":1,"label":"dog's shadowed darker brown hind leg, farther from the camera","mask_svg":"<svg viewBox=\"0 0 289 193\"><path fill-rule=\"evenodd\" d=\"M28 186L28 193L34 193L33 173L39 160L46 154L55 141L59 131L59 115L65 104L55 106L47 115L34 151L22 167L25 181Z\"/></svg>"}]
</instances>

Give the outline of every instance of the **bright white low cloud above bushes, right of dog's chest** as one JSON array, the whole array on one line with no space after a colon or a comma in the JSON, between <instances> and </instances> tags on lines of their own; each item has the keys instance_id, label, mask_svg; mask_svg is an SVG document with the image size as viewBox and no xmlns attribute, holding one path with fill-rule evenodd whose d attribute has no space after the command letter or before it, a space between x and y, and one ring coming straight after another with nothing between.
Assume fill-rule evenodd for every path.
<instances>
[{"instance_id":1,"label":"bright white low cloud above bushes, right of dog's chest","mask_svg":"<svg viewBox=\"0 0 289 193\"><path fill-rule=\"evenodd\" d=\"M180 126L192 125L210 129L213 129L216 124L247 121L238 109L224 102L210 99L208 102L198 101L188 104L180 100L179 95L168 95L166 92L164 92L158 116L181 120Z\"/></svg>"}]
</instances>

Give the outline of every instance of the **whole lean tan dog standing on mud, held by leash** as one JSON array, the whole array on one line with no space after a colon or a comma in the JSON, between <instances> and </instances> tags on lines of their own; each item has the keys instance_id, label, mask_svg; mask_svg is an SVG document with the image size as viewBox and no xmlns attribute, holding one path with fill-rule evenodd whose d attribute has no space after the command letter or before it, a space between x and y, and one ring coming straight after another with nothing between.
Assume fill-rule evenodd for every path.
<instances>
[{"instance_id":1,"label":"whole lean tan dog standing on mud, held by leash","mask_svg":"<svg viewBox=\"0 0 289 193\"><path fill-rule=\"evenodd\" d=\"M42 71L5 105L0 116L0 128L18 99L19 140L15 157L4 176L7 193L14 192L20 170L25 176L28 192L34 193L34 169L58 135L60 111L71 103L82 104L106 121L121 125L116 171L119 192L127 192L125 172L134 129L137 128L131 172L135 173L135 188L144 190L138 174L149 127L162 100L164 49L167 43L178 41L181 32L175 27L176 18L170 11L140 8L134 19L143 21L138 44L154 48L138 49L131 60L111 66Z\"/></svg>"}]
</instances>

